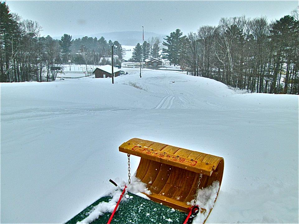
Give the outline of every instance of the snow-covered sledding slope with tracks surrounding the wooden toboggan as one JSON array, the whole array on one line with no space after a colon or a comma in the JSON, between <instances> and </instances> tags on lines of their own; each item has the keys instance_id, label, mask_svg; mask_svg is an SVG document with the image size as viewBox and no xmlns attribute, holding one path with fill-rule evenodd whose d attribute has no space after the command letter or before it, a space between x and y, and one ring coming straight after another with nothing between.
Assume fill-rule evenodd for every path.
<instances>
[{"instance_id":1,"label":"snow-covered sledding slope with tracks surrounding the wooden toboggan","mask_svg":"<svg viewBox=\"0 0 299 224\"><path fill-rule=\"evenodd\" d=\"M298 96L183 72L1 83L1 223L62 223L127 178L142 138L224 157L206 223L298 223ZM130 86L135 82L141 89ZM126 85L124 85L126 84ZM131 156L131 170L139 157Z\"/></svg>"}]
</instances>

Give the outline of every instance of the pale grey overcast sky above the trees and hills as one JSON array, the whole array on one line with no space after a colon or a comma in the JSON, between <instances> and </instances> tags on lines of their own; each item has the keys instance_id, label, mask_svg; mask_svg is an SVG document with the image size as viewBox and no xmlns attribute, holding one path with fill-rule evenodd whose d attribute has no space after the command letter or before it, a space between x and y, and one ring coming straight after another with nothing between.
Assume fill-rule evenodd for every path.
<instances>
[{"instance_id":1,"label":"pale grey overcast sky above the trees and hills","mask_svg":"<svg viewBox=\"0 0 299 224\"><path fill-rule=\"evenodd\" d=\"M7 1L11 12L39 22L42 35L91 35L141 30L184 34L202 25L216 26L221 17L245 15L280 19L298 1Z\"/></svg>"}]
</instances>

